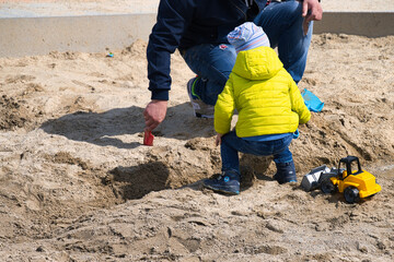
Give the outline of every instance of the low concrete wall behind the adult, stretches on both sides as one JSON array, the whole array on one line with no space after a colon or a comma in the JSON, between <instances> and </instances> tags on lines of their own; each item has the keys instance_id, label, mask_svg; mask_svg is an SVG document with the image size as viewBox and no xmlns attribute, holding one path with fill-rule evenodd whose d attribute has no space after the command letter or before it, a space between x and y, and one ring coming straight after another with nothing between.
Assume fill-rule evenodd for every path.
<instances>
[{"instance_id":1,"label":"low concrete wall behind the adult, stretches on both sides","mask_svg":"<svg viewBox=\"0 0 394 262\"><path fill-rule=\"evenodd\" d=\"M0 19L0 57L46 55L49 51L102 52L147 40L155 13L59 17ZM394 35L394 13L325 12L314 33L369 37Z\"/></svg>"}]
</instances>

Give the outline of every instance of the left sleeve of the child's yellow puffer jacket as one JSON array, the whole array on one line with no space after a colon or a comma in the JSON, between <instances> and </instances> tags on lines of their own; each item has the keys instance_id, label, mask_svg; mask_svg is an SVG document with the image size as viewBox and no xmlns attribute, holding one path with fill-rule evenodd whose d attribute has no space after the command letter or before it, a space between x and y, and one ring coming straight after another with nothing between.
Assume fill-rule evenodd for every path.
<instances>
[{"instance_id":1,"label":"left sleeve of the child's yellow puffer jacket","mask_svg":"<svg viewBox=\"0 0 394 262\"><path fill-rule=\"evenodd\" d=\"M224 90L219 94L215 105L215 130L220 134L230 132L231 119L235 109L233 78L230 74Z\"/></svg>"}]
</instances>

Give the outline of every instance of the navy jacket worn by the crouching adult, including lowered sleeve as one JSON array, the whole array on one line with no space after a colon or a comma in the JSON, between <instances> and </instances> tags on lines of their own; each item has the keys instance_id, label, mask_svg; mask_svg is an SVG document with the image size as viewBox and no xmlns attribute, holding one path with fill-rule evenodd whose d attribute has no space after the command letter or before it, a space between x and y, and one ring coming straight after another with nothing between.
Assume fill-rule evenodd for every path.
<instances>
[{"instance_id":1,"label":"navy jacket worn by the crouching adult, including lowered sleeve","mask_svg":"<svg viewBox=\"0 0 394 262\"><path fill-rule=\"evenodd\" d=\"M147 50L149 90L152 99L167 100L171 87L170 59L199 44L224 44L237 25L253 21L266 0L161 0ZM251 5L251 4L250 4Z\"/></svg>"}]
</instances>

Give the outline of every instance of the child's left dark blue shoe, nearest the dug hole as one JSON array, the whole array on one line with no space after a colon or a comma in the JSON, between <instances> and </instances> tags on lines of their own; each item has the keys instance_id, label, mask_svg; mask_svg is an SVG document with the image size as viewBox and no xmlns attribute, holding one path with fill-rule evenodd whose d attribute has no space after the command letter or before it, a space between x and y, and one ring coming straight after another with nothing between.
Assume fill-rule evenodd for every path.
<instances>
[{"instance_id":1,"label":"child's left dark blue shoe, nearest the dug hole","mask_svg":"<svg viewBox=\"0 0 394 262\"><path fill-rule=\"evenodd\" d=\"M239 194L240 193L240 174L236 171L224 171L217 179L205 179L204 187L211 189L216 192L225 194Z\"/></svg>"}]
</instances>

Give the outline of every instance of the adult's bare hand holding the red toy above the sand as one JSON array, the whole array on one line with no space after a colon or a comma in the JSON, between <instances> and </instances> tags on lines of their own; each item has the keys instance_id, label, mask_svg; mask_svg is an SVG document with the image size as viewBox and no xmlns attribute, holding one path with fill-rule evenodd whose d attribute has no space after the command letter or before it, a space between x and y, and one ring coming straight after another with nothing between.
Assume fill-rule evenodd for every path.
<instances>
[{"instance_id":1,"label":"adult's bare hand holding the red toy above the sand","mask_svg":"<svg viewBox=\"0 0 394 262\"><path fill-rule=\"evenodd\" d=\"M146 130L152 131L165 118L167 108L166 100L151 100L143 110L143 118L146 120Z\"/></svg>"}]
</instances>

